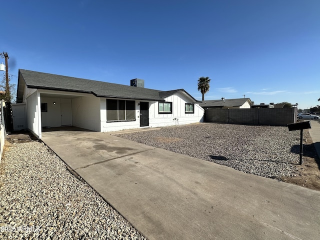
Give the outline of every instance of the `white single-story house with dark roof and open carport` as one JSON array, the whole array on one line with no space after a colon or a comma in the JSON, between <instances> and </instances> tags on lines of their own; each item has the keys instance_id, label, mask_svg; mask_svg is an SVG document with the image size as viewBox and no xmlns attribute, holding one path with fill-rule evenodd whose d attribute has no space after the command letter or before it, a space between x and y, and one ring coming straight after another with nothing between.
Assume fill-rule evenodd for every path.
<instances>
[{"instance_id":1,"label":"white single-story house with dark roof and open carport","mask_svg":"<svg viewBox=\"0 0 320 240\"><path fill-rule=\"evenodd\" d=\"M27 128L38 138L42 127L105 132L203 121L199 101L183 89L133 86L136 79L130 86L24 69L18 74L16 102L25 103Z\"/></svg>"}]
</instances>

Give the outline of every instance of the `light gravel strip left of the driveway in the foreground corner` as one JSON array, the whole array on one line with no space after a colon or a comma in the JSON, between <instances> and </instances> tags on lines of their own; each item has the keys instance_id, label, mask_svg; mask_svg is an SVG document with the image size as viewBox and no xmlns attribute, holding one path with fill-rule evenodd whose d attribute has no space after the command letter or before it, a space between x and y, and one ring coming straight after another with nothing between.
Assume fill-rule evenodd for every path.
<instances>
[{"instance_id":1,"label":"light gravel strip left of the driveway in the foreground corner","mask_svg":"<svg viewBox=\"0 0 320 240\"><path fill-rule=\"evenodd\" d=\"M38 141L6 147L0 239L145 239Z\"/></svg>"}]
</instances>

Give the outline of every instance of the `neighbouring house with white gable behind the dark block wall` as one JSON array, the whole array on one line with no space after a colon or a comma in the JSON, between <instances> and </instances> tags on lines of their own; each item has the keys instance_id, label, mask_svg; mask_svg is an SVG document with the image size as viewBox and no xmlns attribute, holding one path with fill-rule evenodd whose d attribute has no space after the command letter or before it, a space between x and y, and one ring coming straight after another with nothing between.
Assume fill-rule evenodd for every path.
<instances>
[{"instance_id":1,"label":"neighbouring house with white gable behind the dark block wall","mask_svg":"<svg viewBox=\"0 0 320 240\"><path fill-rule=\"evenodd\" d=\"M250 108L252 101L250 98L205 100L200 103L202 108Z\"/></svg>"}]
</instances>

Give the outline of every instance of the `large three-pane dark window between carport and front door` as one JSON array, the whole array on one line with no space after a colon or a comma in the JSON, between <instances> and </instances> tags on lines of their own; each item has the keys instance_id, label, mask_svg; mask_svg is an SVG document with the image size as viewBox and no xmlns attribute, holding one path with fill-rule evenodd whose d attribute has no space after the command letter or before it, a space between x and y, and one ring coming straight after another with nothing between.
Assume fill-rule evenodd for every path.
<instances>
[{"instance_id":1,"label":"large three-pane dark window between carport and front door","mask_svg":"<svg viewBox=\"0 0 320 240\"><path fill-rule=\"evenodd\" d=\"M106 99L106 120L135 120L135 101Z\"/></svg>"}]
</instances>

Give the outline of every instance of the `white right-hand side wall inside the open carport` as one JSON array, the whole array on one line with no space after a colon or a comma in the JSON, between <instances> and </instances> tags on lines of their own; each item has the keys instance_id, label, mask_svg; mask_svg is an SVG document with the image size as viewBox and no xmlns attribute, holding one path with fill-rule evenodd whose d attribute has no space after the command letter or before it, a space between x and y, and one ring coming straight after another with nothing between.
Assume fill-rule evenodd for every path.
<instances>
[{"instance_id":1,"label":"white right-hand side wall inside the open carport","mask_svg":"<svg viewBox=\"0 0 320 240\"><path fill-rule=\"evenodd\" d=\"M100 107L100 98L93 95L72 98L72 125L100 131Z\"/></svg>"}]
</instances>

